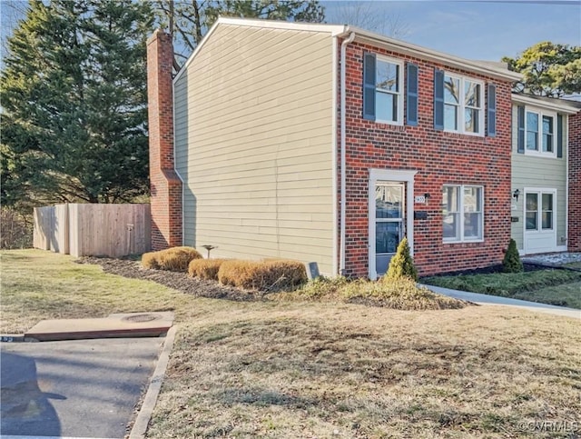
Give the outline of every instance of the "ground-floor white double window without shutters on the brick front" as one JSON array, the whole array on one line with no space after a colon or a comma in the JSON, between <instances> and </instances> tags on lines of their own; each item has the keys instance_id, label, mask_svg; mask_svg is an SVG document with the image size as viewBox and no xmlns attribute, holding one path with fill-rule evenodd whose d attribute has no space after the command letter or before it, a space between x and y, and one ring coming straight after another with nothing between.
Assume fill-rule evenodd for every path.
<instances>
[{"instance_id":1,"label":"ground-floor white double window without shutters on the brick front","mask_svg":"<svg viewBox=\"0 0 581 439\"><path fill-rule=\"evenodd\" d=\"M484 239L484 189L482 186L445 185L442 216L445 243Z\"/></svg>"}]
</instances>

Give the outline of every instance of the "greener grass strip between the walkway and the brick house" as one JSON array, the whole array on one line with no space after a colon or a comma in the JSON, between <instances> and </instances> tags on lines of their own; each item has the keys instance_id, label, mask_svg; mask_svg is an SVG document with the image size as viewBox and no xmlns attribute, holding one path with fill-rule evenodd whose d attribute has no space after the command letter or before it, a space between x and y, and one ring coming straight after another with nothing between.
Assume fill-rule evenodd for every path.
<instances>
[{"instance_id":1,"label":"greener grass strip between the walkway and the brick house","mask_svg":"<svg viewBox=\"0 0 581 439\"><path fill-rule=\"evenodd\" d=\"M472 293L581 308L581 272L570 270L430 276L421 282Z\"/></svg>"}]
</instances>

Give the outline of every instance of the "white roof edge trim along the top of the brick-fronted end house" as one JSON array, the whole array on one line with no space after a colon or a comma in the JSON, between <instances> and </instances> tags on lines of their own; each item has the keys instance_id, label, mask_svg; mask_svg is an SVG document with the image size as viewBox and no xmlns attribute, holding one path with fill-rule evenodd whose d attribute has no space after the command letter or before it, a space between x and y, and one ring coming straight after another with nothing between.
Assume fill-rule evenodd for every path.
<instances>
[{"instance_id":1,"label":"white roof edge trim along the top of the brick-fronted end house","mask_svg":"<svg viewBox=\"0 0 581 439\"><path fill-rule=\"evenodd\" d=\"M281 20L262 20L262 19L248 19L248 18L233 18L233 17L219 17L218 20L212 25L212 28L204 35L202 41L196 46L192 55L188 58L185 64L180 69L180 72L175 76L174 81L178 79L182 72L191 64L192 59L202 48L202 45L206 40L212 35L214 30L218 25L240 25L248 27L262 27L267 29L285 29L285 30L296 30L305 32L321 32L328 33L333 37L344 37L345 35L350 35L350 33L355 33L356 40L369 42L373 45L380 45L389 50L393 50L403 55L410 55L426 59L428 61L436 61L438 63L456 67L461 70L468 70L476 72L481 75L488 75L501 79L504 81L518 81L522 79L520 74L516 72L511 72L509 70L497 68L491 65L480 64L478 61L472 61L465 58L460 58L454 55L444 54L442 52L437 52L435 50L428 49L427 47L422 47L419 45L412 45L404 41L396 40L394 38L389 38L388 36L375 34L358 27L353 27L350 25L327 25L327 24L313 24L313 23L297 23L297 22L286 22Z\"/></svg>"}]
</instances>

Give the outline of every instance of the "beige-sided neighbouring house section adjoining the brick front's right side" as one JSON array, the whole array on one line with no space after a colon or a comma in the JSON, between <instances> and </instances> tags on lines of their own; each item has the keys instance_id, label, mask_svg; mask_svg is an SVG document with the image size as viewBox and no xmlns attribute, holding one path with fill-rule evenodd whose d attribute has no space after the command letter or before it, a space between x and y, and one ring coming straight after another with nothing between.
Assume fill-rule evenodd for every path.
<instances>
[{"instance_id":1,"label":"beige-sided neighbouring house section adjoining the brick front's right side","mask_svg":"<svg viewBox=\"0 0 581 439\"><path fill-rule=\"evenodd\" d=\"M512 96L511 235L521 254L565 252L569 241L569 118L575 102ZM578 152L576 153L578 155ZM577 183L578 185L578 183ZM573 233L575 241L576 233Z\"/></svg>"}]
</instances>

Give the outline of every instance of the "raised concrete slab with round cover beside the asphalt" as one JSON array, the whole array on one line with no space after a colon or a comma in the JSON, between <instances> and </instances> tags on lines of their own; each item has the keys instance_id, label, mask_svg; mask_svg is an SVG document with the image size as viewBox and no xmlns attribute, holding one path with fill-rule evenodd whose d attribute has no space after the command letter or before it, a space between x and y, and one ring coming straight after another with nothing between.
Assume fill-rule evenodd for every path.
<instances>
[{"instance_id":1,"label":"raised concrete slab with round cover beside the asphalt","mask_svg":"<svg viewBox=\"0 0 581 439\"><path fill-rule=\"evenodd\" d=\"M41 342L89 338L154 337L172 327L173 313L110 314L105 318L43 320L25 333Z\"/></svg>"}]
</instances>

